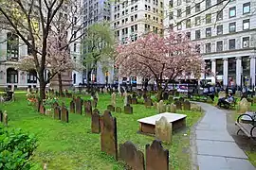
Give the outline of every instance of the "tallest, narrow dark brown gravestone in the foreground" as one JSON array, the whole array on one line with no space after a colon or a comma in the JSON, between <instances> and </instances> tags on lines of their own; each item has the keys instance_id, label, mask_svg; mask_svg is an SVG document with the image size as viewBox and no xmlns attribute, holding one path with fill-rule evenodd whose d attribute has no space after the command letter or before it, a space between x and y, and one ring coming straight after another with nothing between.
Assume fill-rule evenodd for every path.
<instances>
[{"instance_id":1,"label":"tallest, narrow dark brown gravestone in the foreground","mask_svg":"<svg viewBox=\"0 0 256 170\"><path fill-rule=\"evenodd\" d=\"M117 120L109 110L101 117L101 151L118 160Z\"/></svg>"}]
</instances>

